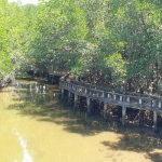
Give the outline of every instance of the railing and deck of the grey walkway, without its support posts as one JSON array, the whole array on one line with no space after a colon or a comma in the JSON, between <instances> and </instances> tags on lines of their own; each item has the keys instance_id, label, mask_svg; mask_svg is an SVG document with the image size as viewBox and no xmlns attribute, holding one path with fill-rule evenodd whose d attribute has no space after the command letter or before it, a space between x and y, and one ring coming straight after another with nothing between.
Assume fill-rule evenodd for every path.
<instances>
[{"instance_id":1,"label":"railing and deck of the grey walkway, without its support posts","mask_svg":"<svg viewBox=\"0 0 162 162\"><path fill-rule=\"evenodd\" d=\"M141 110L151 110L153 111L157 109L157 111L162 111L162 99L156 98L152 96L141 96L134 93L116 93L113 91L104 91L99 90L99 87L94 86L87 86L83 83L79 85L79 82L67 82L65 80L59 81L59 85L65 90L68 90L69 92L78 95L78 96L84 96L90 99L96 99L99 102L112 104L112 105L119 105L129 108L135 108L135 109L141 109ZM62 92L63 97L63 92ZM124 99L125 98L125 99Z\"/></svg>"}]
</instances>

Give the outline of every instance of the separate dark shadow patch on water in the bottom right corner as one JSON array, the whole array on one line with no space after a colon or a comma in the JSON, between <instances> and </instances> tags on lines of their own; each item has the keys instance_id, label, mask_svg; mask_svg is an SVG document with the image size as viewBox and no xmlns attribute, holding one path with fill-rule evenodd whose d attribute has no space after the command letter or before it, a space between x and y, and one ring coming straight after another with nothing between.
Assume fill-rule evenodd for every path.
<instances>
[{"instance_id":1,"label":"separate dark shadow patch on water in the bottom right corner","mask_svg":"<svg viewBox=\"0 0 162 162\"><path fill-rule=\"evenodd\" d=\"M145 153L146 159L150 159L152 162L161 162L162 140L153 136L149 136L145 132L138 131L138 129L135 130L136 131L134 132L126 130L122 133L123 136L120 137L117 143L103 140L102 144L111 150L126 150Z\"/></svg>"}]
</instances>

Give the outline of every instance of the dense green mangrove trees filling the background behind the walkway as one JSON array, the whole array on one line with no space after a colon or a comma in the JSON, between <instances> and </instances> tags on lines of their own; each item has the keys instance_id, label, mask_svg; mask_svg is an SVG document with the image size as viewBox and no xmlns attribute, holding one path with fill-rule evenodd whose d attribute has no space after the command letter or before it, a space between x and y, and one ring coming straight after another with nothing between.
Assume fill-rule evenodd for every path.
<instances>
[{"instance_id":1,"label":"dense green mangrove trees filling the background behind the walkway","mask_svg":"<svg viewBox=\"0 0 162 162\"><path fill-rule=\"evenodd\" d=\"M69 69L86 82L162 93L161 0L0 0L0 78Z\"/></svg>"}]
</instances>

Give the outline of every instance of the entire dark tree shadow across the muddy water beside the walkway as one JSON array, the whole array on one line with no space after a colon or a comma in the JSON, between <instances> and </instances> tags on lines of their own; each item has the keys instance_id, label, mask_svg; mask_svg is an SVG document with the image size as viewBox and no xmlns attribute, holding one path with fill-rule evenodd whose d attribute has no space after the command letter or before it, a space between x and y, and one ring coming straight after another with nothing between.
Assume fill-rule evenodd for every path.
<instances>
[{"instance_id":1,"label":"entire dark tree shadow across the muddy water beside the walkway","mask_svg":"<svg viewBox=\"0 0 162 162\"><path fill-rule=\"evenodd\" d=\"M36 93L35 90L23 87L15 89L14 92L18 97L14 98L16 104L11 105L9 109L17 109L22 116L31 116L40 122L59 124L64 126L65 131L83 136L93 136L102 132L116 132L122 134L122 137L116 143L103 140L102 144L105 147L112 150L144 152L146 158L152 162L162 161L161 151L153 152L154 149L162 149L162 140L158 135L150 133L153 132L151 129L123 127L121 122L107 122L95 116L87 117L83 110L73 113L72 107L58 100L58 86L56 85L48 84L45 93Z\"/></svg>"}]
</instances>

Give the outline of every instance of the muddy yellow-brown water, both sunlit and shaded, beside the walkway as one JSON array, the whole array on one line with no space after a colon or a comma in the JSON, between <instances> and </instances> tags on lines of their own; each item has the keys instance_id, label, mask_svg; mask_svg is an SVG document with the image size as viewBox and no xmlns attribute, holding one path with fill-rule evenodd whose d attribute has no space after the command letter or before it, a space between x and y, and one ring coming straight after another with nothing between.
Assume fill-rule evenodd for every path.
<instances>
[{"instance_id":1,"label":"muddy yellow-brown water, both sunlit and shaded, beside the walkway","mask_svg":"<svg viewBox=\"0 0 162 162\"><path fill-rule=\"evenodd\" d=\"M149 130L87 118L84 111L73 113L58 102L58 86L36 80L17 82L16 87L0 92L0 162L162 160L162 141L148 135Z\"/></svg>"}]
</instances>

